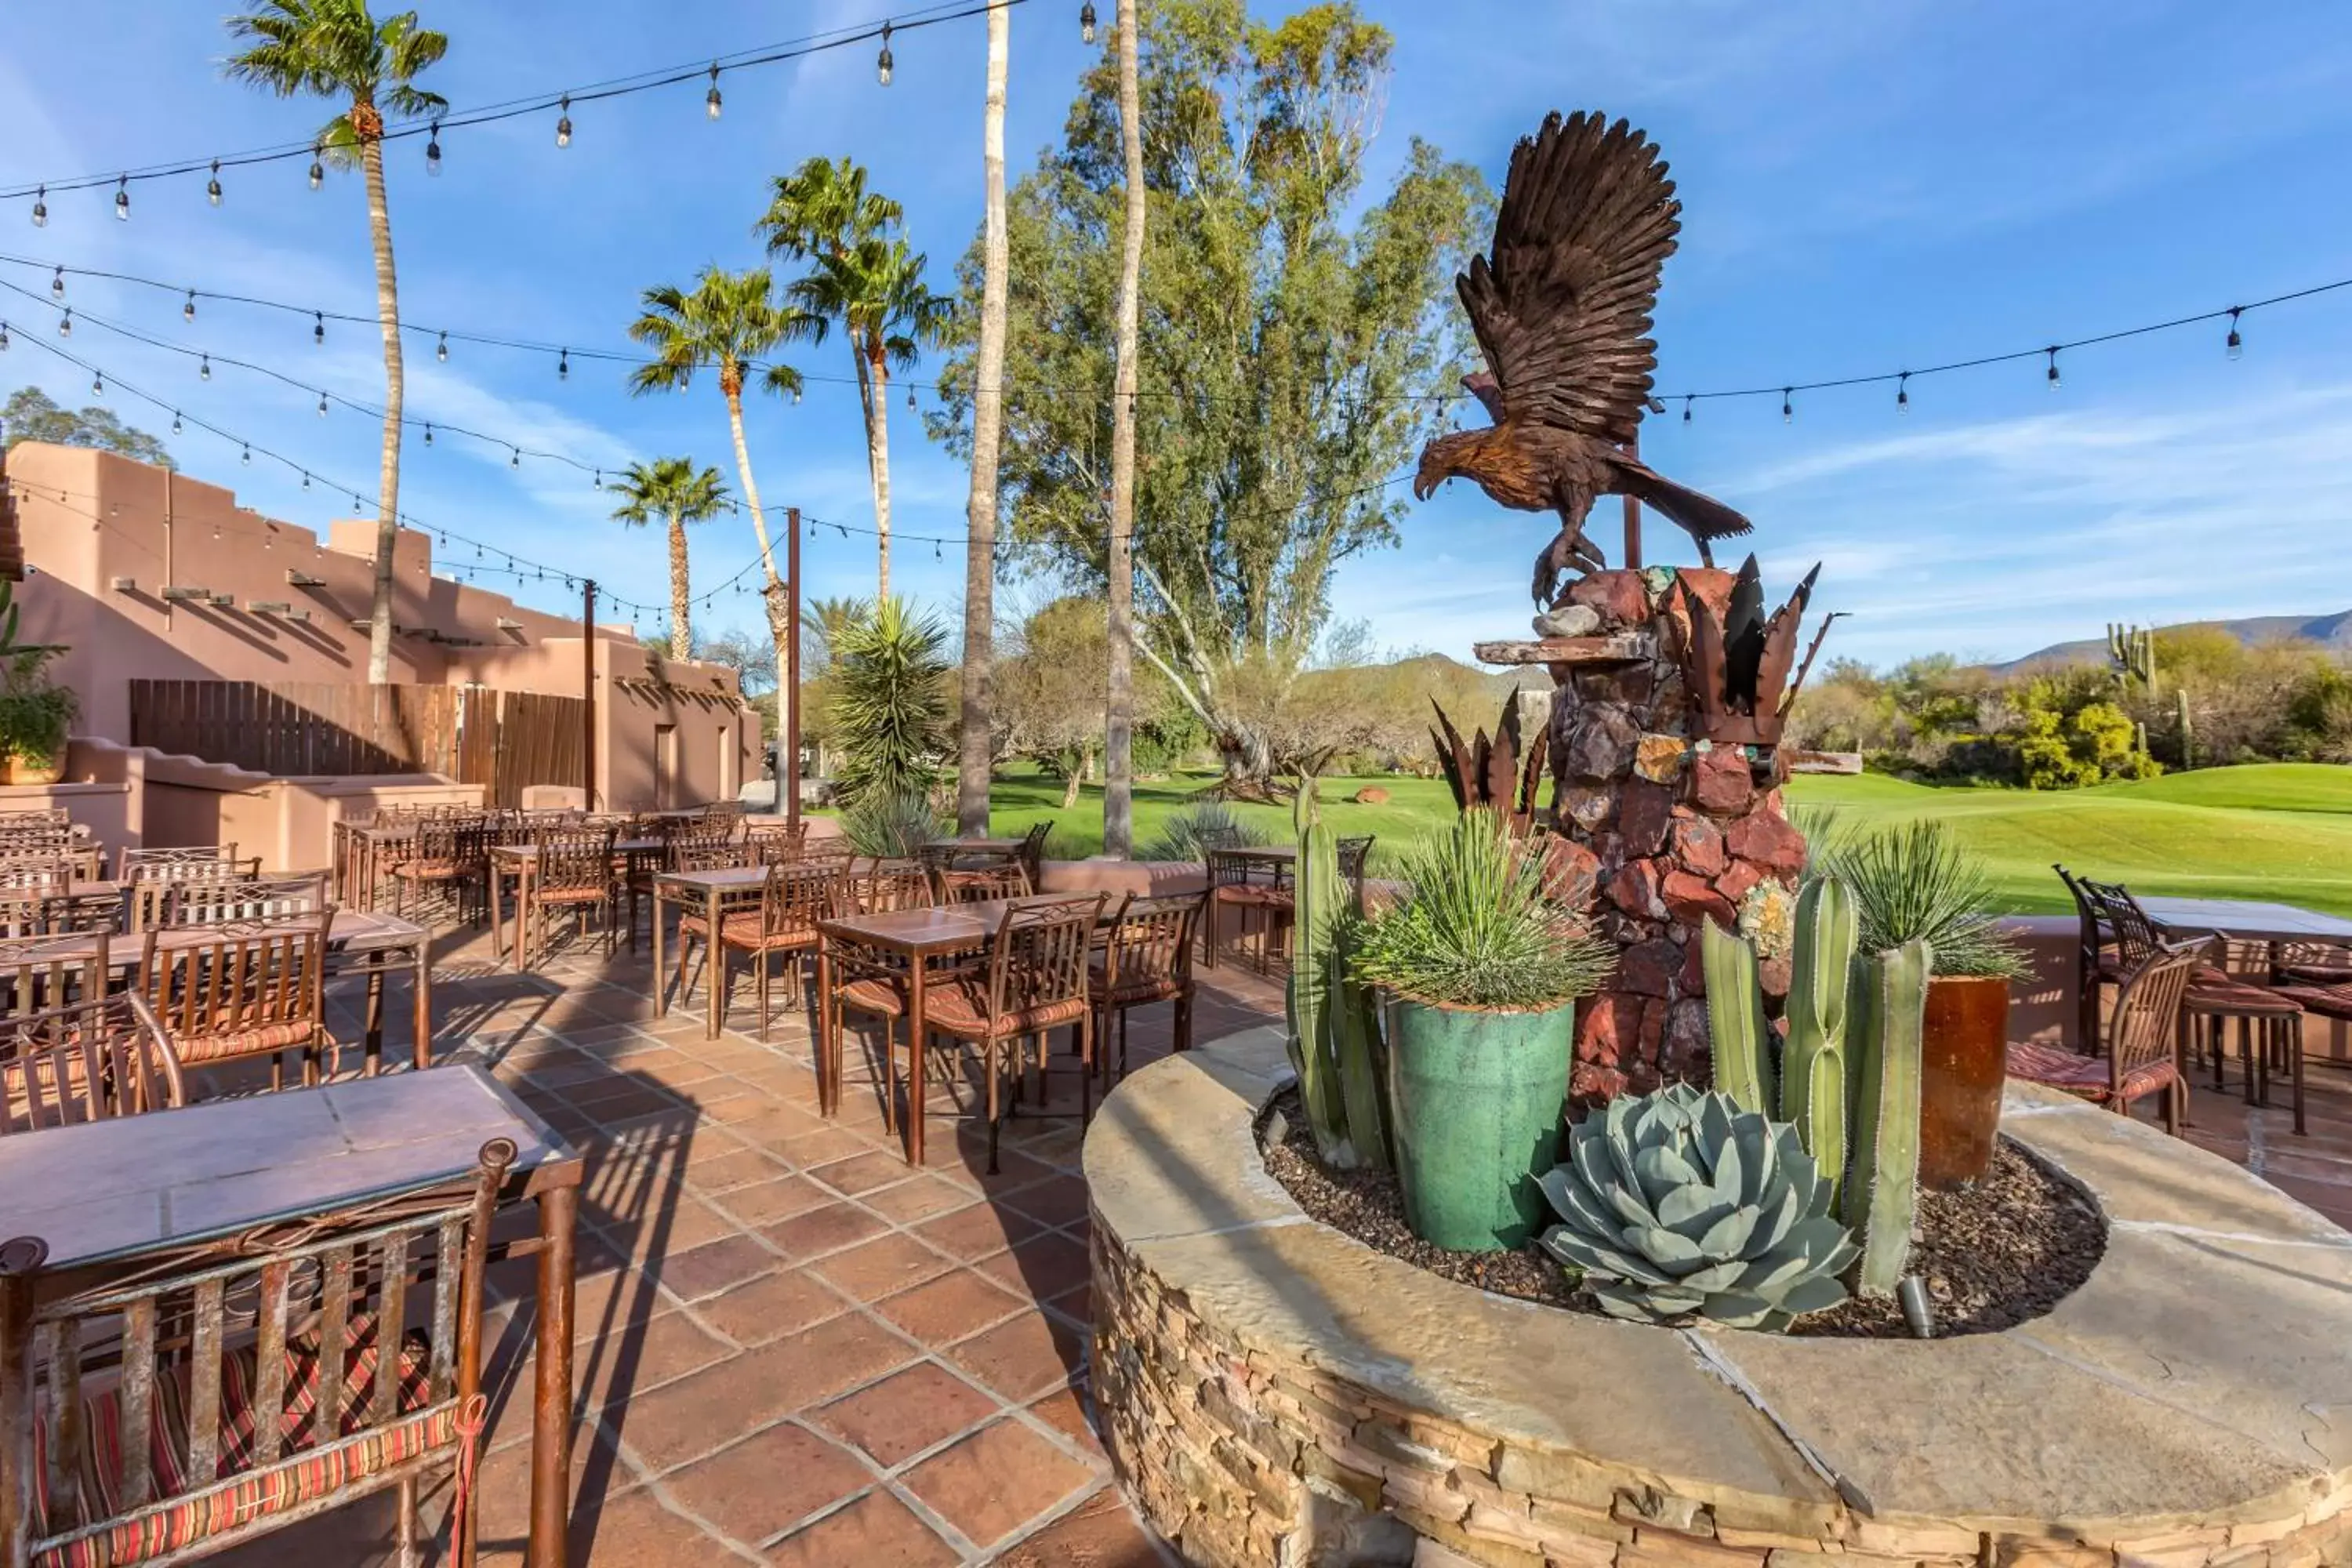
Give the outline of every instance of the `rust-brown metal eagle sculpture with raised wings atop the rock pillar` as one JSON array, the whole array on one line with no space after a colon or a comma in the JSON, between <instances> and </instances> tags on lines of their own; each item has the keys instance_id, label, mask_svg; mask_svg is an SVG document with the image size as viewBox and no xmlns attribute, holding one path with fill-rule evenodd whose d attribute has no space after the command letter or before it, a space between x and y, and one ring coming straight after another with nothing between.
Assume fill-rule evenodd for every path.
<instances>
[{"instance_id":1,"label":"rust-brown metal eagle sculpture with raised wings atop the rock pillar","mask_svg":"<svg viewBox=\"0 0 2352 1568\"><path fill-rule=\"evenodd\" d=\"M1625 120L1552 113L1510 155L1494 254L1454 280L1486 355L1486 374L1463 386L1494 425L1423 447L1414 494L1428 501L1463 477L1522 512L1559 512L1559 538L1536 557L1536 604L1555 604L1569 571L1606 564L1585 538L1595 496L1665 512L1710 567L1708 541L1750 531L1722 501L1632 454L1658 367L1649 313L1679 214L1649 136Z\"/></svg>"}]
</instances>

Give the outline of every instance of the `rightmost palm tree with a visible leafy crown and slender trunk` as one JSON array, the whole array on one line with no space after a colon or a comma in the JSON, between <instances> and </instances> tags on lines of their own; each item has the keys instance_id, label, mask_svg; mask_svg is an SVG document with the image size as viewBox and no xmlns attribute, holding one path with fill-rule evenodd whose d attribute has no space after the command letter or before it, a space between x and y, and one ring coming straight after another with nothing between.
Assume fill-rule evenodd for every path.
<instances>
[{"instance_id":1,"label":"rightmost palm tree with a visible leafy crown and slender trunk","mask_svg":"<svg viewBox=\"0 0 2352 1568\"><path fill-rule=\"evenodd\" d=\"M840 322L858 367L882 559L880 597L889 597L889 371L894 364L913 369L922 346L938 341L953 308L924 287L922 270L922 252L875 235L847 252L816 256L809 275L786 287L786 299L800 310L795 336L823 343L830 324Z\"/></svg>"}]
</instances>

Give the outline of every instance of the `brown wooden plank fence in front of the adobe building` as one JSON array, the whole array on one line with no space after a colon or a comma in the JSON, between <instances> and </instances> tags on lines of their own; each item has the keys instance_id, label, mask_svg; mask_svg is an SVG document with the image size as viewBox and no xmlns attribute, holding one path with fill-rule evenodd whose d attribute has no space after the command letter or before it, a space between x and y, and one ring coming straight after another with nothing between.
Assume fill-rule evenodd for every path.
<instances>
[{"instance_id":1,"label":"brown wooden plank fence in front of the adobe building","mask_svg":"<svg viewBox=\"0 0 2352 1568\"><path fill-rule=\"evenodd\" d=\"M485 686L134 679L132 745L254 773L442 773L520 806L527 785L581 785L576 696Z\"/></svg>"}]
</instances>

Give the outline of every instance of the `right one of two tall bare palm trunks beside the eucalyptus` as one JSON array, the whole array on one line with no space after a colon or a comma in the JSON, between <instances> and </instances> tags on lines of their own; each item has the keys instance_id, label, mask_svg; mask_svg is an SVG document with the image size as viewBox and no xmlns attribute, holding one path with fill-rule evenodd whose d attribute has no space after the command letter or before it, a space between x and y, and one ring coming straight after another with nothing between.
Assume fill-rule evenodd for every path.
<instances>
[{"instance_id":1,"label":"right one of two tall bare palm trunks beside the eucalyptus","mask_svg":"<svg viewBox=\"0 0 2352 1568\"><path fill-rule=\"evenodd\" d=\"M1136 87L1136 0L1120 0L1120 141L1127 148L1127 235L1120 252L1117 381L1110 393L1110 691L1103 722L1103 853L1134 846L1136 639L1136 317L1143 289L1143 108Z\"/></svg>"}]
</instances>

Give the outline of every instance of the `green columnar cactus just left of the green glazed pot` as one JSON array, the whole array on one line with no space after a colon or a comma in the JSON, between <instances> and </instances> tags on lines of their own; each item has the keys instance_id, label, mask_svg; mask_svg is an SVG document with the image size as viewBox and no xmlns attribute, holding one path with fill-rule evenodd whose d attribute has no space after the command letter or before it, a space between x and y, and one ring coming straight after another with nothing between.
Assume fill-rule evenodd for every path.
<instances>
[{"instance_id":1,"label":"green columnar cactus just left of the green glazed pot","mask_svg":"<svg viewBox=\"0 0 2352 1568\"><path fill-rule=\"evenodd\" d=\"M1385 1171L1388 1133L1374 1060L1378 1020L1369 987L1348 973L1348 952L1362 919L1359 893L1338 872L1338 844L1322 820L1312 778L1298 780L1291 823L1298 830L1298 860L1291 872L1287 1013L1298 1098L1327 1166Z\"/></svg>"}]
</instances>

